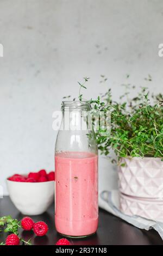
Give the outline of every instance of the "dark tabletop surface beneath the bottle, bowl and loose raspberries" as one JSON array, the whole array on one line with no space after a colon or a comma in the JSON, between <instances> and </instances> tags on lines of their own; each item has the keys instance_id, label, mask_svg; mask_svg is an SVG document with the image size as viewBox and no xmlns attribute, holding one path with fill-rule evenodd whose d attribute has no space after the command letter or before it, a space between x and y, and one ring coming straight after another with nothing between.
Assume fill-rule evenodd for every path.
<instances>
[{"instance_id":1,"label":"dark tabletop surface beneath the bottle, bowl and loose raspberries","mask_svg":"<svg viewBox=\"0 0 163 256\"><path fill-rule=\"evenodd\" d=\"M11 215L17 220L24 216L18 212L9 197L0 199L0 216ZM55 245L61 236L55 230L54 205L42 215L33 216L34 221L45 221L49 231L46 236L35 236L33 231L21 230L24 240L32 238L33 245ZM0 241L5 241L7 234L0 233ZM154 230L140 230L122 221L108 212L99 209L99 227L97 233L86 239L71 239L73 245L163 245L160 236Z\"/></svg>"}]
</instances>

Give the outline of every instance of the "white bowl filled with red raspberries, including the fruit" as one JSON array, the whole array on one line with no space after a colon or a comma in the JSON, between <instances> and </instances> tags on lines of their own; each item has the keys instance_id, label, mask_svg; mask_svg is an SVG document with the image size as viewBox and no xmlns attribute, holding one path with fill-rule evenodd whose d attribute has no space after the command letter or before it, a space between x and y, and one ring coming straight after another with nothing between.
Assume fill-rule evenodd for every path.
<instances>
[{"instance_id":1,"label":"white bowl filled with red raspberries, including the fruit","mask_svg":"<svg viewBox=\"0 0 163 256\"><path fill-rule=\"evenodd\" d=\"M23 215L39 215L54 201L55 173L45 169L27 175L14 174L7 179L12 203Z\"/></svg>"}]
</instances>

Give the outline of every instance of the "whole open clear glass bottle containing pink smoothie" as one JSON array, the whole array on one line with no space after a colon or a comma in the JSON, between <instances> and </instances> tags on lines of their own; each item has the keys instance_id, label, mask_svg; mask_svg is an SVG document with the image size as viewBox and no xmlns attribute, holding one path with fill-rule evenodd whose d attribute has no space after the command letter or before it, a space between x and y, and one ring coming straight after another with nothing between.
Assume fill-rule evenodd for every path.
<instances>
[{"instance_id":1,"label":"whole open clear glass bottle containing pink smoothie","mask_svg":"<svg viewBox=\"0 0 163 256\"><path fill-rule=\"evenodd\" d=\"M68 237L94 234L98 226L98 148L88 101L62 102L55 143L55 227Z\"/></svg>"}]
</instances>

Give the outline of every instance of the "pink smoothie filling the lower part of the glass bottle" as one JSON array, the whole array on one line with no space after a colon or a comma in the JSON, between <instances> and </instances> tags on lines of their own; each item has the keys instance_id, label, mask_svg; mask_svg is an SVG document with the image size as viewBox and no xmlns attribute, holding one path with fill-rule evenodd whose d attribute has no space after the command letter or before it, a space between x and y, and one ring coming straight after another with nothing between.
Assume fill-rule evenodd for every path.
<instances>
[{"instance_id":1,"label":"pink smoothie filling the lower part of the glass bottle","mask_svg":"<svg viewBox=\"0 0 163 256\"><path fill-rule=\"evenodd\" d=\"M98 226L98 156L55 155L55 227L69 236L85 236Z\"/></svg>"}]
</instances>

